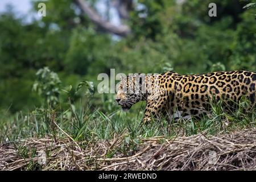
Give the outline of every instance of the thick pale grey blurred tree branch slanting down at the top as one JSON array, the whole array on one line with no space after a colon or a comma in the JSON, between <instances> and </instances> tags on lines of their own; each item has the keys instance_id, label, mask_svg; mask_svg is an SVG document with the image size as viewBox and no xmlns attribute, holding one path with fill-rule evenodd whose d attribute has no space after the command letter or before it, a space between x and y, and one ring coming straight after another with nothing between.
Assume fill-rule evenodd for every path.
<instances>
[{"instance_id":1,"label":"thick pale grey blurred tree branch slanting down at the top","mask_svg":"<svg viewBox=\"0 0 256 182\"><path fill-rule=\"evenodd\" d=\"M101 16L88 5L88 3L82 0L75 0L75 2L82 10L82 13L86 14L93 23L97 24L97 26L101 27L103 30L119 36L127 36L130 34L131 31L129 26L125 24L115 26L108 22L108 20L103 20Z\"/></svg>"}]
</instances>

